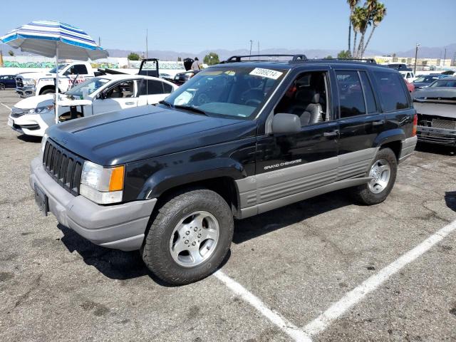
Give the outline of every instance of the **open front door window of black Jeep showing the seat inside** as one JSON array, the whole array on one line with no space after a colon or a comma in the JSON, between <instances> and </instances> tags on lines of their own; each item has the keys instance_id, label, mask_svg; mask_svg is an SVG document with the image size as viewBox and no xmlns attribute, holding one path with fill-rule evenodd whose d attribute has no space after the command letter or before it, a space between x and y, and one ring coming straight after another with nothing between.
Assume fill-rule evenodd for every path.
<instances>
[{"instance_id":1,"label":"open front door window of black Jeep showing the seat inside","mask_svg":"<svg viewBox=\"0 0 456 342\"><path fill-rule=\"evenodd\" d=\"M301 126L331 120L328 106L328 77L326 72L301 73L274 109L276 113L299 116Z\"/></svg>"}]
</instances>

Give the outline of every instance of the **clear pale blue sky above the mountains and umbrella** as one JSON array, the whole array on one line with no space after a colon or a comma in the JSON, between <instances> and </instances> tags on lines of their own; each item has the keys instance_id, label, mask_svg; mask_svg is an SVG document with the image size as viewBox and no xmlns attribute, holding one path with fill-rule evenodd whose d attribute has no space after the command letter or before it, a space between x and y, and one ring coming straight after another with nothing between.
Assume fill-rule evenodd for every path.
<instances>
[{"instance_id":1,"label":"clear pale blue sky above the mountains and umbrella","mask_svg":"<svg viewBox=\"0 0 456 342\"><path fill-rule=\"evenodd\" d=\"M4 0L6 1L6 0ZM58 3L58 6L56 4ZM385 21L369 49L405 51L456 43L456 0L384 0ZM14 6L14 4L20 4ZM334 48L347 46L346 0L55 1L1 5L0 35L32 20L82 28L105 48L199 52L205 49ZM433 22L436 20L435 22Z\"/></svg>"}]
</instances>

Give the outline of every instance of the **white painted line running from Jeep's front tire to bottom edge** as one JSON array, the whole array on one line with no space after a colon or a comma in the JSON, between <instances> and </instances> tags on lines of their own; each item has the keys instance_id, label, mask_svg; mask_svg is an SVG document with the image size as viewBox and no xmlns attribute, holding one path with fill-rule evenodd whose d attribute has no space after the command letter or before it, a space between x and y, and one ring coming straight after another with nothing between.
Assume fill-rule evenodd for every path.
<instances>
[{"instance_id":1,"label":"white painted line running from Jeep's front tire to bottom edge","mask_svg":"<svg viewBox=\"0 0 456 342\"><path fill-rule=\"evenodd\" d=\"M233 279L229 278L222 271L217 271L214 276L222 281L234 294L241 296L244 301L252 305L257 309L264 317L268 318L271 323L278 326L281 331L284 331L288 336L294 339L296 342L311 342L311 338L304 331L300 330L293 323L286 320L279 313L269 309L257 296L252 294L249 290L245 289L244 286L237 283Z\"/></svg>"}]
</instances>

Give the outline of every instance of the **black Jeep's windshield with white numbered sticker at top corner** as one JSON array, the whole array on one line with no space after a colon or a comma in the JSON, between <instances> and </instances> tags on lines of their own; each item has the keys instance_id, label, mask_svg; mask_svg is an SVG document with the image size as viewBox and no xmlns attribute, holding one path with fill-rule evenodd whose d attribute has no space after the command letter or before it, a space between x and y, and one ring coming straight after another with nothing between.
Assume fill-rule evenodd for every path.
<instances>
[{"instance_id":1,"label":"black Jeep's windshield with white numbered sticker at top corner","mask_svg":"<svg viewBox=\"0 0 456 342\"><path fill-rule=\"evenodd\" d=\"M285 73L252 66L211 67L190 78L165 103L197 108L207 115L254 118Z\"/></svg>"}]
</instances>

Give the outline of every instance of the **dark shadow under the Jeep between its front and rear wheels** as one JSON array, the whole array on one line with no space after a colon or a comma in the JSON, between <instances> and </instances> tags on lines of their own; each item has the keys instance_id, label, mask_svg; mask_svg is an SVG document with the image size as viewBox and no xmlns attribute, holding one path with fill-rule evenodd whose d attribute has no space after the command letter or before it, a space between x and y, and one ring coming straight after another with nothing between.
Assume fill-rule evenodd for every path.
<instances>
[{"instance_id":1,"label":"dark shadow under the Jeep between its front and rear wheels","mask_svg":"<svg viewBox=\"0 0 456 342\"><path fill-rule=\"evenodd\" d=\"M353 201L346 196L346 192L331 192L290 204L271 212L249 217L248 219L242 219L234 224L233 242L241 244L249 239L274 232L290 224L351 204L353 204Z\"/></svg>"}]
</instances>

